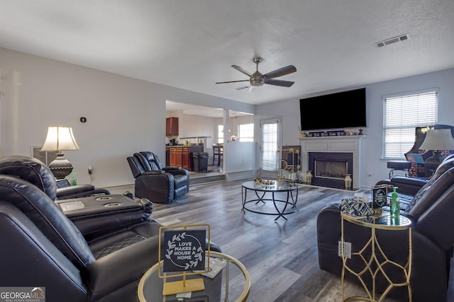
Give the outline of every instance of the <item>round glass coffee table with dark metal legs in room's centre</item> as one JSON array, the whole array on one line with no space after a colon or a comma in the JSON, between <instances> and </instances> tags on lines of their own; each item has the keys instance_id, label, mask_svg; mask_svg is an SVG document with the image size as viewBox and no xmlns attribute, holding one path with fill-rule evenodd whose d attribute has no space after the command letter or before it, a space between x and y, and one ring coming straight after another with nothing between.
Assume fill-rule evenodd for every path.
<instances>
[{"instance_id":1,"label":"round glass coffee table with dark metal legs in room's centre","mask_svg":"<svg viewBox=\"0 0 454 302\"><path fill-rule=\"evenodd\" d=\"M252 199L248 199L248 190L255 193ZM271 198L265 198L267 193L271 193ZM279 193L284 194L285 198L281 195L277 197L276 195ZM287 220L285 215L297 211L298 186L292 182L277 182L273 180L270 185L265 185L262 183L257 184L255 181L250 180L243 182L241 197L243 199L243 214L245 214L245 211L251 211L258 214L275 215L277 216L275 220L281 217ZM270 210L260 207L264 206L266 202L272 202L274 209Z\"/></svg>"}]
</instances>

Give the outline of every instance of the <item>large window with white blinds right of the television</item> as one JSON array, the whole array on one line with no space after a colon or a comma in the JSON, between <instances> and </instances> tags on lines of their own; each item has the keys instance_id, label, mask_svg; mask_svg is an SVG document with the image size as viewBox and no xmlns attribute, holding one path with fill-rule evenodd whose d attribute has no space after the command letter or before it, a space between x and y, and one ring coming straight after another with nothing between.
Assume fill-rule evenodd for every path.
<instances>
[{"instance_id":1,"label":"large window with white blinds right of the television","mask_svg":"<svg viewBox=\"0 0 454 302\"><path fill-rule=\"evenodd\" d=\"M437 123L438 91L384 98L384 158L404 158L414 145L415 128Z\"/></svg>"}]
</instances>

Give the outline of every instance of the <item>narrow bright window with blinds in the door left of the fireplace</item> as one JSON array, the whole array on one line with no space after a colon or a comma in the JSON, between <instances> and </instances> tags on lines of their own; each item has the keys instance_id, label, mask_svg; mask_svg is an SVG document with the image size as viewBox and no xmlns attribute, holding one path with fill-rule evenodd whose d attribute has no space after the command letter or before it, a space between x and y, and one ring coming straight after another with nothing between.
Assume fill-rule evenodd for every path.
<instances>
[{"instance_id":1,"label":"narrow bright window with blinds in the door left of the fireplace","mask_svg":"<svg viewBox=\"0 0 454 302\"><path fill-rule=\"evenodd\" d=\"M280 120L266 120L262 126L262 170L276 171L280 161Z\"/></svg>"}]
</instances>

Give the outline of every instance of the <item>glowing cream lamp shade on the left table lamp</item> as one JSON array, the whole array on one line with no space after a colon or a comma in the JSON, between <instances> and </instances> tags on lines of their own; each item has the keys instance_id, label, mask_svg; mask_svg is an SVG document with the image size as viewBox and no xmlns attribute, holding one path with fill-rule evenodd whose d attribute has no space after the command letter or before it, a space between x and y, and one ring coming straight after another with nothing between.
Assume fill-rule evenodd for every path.
<instances>
[{"instance_id":1,"label":"glowing cream lamp shade on the left table lamp","mask_svg":"<svg viewBox=\"0 0 454 302\"><path fill-rule=\"evenodd\" d=\"M49 127L48 137L41 151L63 151L63 150L79 150L76 139L72 134L71 127L55 126Z\"/></svg>"}]
</instances>

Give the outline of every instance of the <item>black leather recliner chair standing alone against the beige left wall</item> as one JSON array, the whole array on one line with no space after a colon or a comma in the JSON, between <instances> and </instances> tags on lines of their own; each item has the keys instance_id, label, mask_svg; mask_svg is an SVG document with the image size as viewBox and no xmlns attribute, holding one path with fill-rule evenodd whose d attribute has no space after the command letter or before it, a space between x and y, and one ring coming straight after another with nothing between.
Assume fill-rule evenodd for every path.
<instances>
[{"instance_id":1,"label":"black leather recliner chair standing alone against the beige left wall","mask_svg":"<svg viewBox=\"0 0 454 302\"><path fill-rule=\"evenodd\" d=\"M179 167L165 167L149 151L134 153L126 158L135 178L136 197L167 204L189 192L189 171Z\"/></svg>"}]
</instances>

